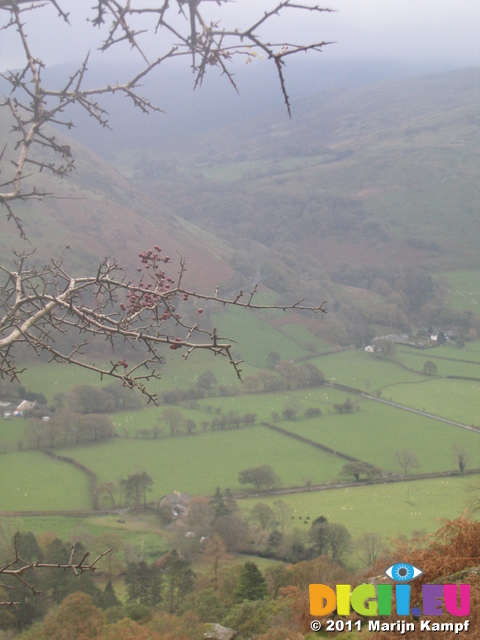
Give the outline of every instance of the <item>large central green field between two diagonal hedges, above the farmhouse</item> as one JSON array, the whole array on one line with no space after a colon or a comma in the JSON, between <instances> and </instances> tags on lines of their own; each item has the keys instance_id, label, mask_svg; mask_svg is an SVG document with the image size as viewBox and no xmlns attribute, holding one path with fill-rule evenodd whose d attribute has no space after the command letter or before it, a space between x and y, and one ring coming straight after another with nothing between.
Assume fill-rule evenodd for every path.
<instances>
[{"instance_id":1,"label":"large central green field between two diagonal hedges, above the farmhouse","mask_svg":"<svg viewBox=\"0 0 480 640\"><path fill-rule=\"evenodd\" d=\"M155 499L173 491L213 495L217 486L244 489L239 471L261 464L270 464L286 486L301 486L305 477L328 482L341 468L340 459L263 427L157 441L117 439L65 453L95 471L99 482L145 470L154 480Z\"/></svg>"}]
</instances>

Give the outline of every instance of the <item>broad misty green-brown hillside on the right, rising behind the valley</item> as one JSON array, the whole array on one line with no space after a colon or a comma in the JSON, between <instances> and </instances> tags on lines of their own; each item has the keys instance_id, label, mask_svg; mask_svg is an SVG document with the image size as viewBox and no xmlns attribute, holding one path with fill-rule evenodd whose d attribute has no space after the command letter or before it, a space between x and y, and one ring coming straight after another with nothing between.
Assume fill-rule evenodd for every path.
<instances>
[{"instance_id":1,"label":"broad misty green-brown hillside on the right, rising behind the valley","mask_svg":"<svg viewBox=\"0 0 480 640\"><path fill-rule=\"evenodd\" d=\"M118 166L185 219L329 273L477 268L479 101L479 69L323 91L291 121L279 109Z\"/></svg>"}]
</instances>

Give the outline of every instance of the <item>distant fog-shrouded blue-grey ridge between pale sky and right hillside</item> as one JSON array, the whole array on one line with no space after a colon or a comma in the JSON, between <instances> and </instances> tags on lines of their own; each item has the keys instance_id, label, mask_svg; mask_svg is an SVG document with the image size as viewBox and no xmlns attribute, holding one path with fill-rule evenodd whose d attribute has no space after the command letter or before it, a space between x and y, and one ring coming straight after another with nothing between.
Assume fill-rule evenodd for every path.
<instances>
[{"instance_id":1,"label":"distant fog-shrouded blue-grey ridge between pale sky and right hillside","mask_svg":"<svg viewBox=\"0 0 480 640\"><path fill-rule=\"evenodd\" d=\"M177 68L178 67L178 68ZM371 85L381 81L406 79L426 73L455 68L444 60L417 60L385 58L336 58L327 48L317 57L292 59L285 69L288 94L295 103L303 97L319 91ZM73 66L72 66L73 69ZM92 84L99 84L105 77L125 75L128 65L121 68L89 69ZM52 78L63 78L65 68L49 70ZM255 115L281 111L288 121L283 106L283 96L274 70L265 61L237 66L234 80L238 92L225 77L215 73L208 75L202 87L194 88L194 77L185 73L181 64L161 68L145 81L144 95L151 96L164 113L145 118L132 110L131 103L115 98L105 99L110 113L111 130L91 126L91 120L83 112L75 116L75 128L70 135L97 153L105 155L112 150L152 147L156 144L183 141L197 134L204 134L242 122ZM212 99L215 96L215 99ZM294 106L292 119L297 122L301 114Z\"/></svg>"}]
</instances>

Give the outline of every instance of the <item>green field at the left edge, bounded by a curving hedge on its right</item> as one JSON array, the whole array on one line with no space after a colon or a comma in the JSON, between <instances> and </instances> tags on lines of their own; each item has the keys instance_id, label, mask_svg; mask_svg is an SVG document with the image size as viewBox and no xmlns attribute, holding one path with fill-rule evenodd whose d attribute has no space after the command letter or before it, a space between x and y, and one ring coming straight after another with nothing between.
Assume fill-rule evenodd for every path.
<instances>
[{"instance_id":1,"label":"green field at the left edge, bounded by a curving hedge on its right","mask_svg":"<svg viewBox=\"0 0 480 640\"><path fill-rule=\"evenodd\" d=\"M2 456L0 511L91 509L87 476L36 451Z\"/></svg>"}]
</instances>

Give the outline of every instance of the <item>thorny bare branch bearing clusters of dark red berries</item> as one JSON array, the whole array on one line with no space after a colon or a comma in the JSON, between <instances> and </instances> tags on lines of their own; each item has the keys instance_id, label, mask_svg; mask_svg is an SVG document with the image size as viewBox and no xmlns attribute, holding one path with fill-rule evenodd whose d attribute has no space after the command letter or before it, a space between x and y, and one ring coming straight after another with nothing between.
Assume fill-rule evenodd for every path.
<instances>
[{"instance_id":1,"label":"thorny bare branch bearing clusters of dark red berries","mask_svg":"<svg viewBox=\"0 0 480 640\"><path fill-rule=\"evenodd\" d=\"M211 301L213 304L234 305L245 309L295 309L323 312L325 303L308 307L302 301L288 305L254 303L256 287L242 300L241 291L234 298L223 298L191 291L183 285L185 264L180 259L178 278L164 270L170 257L161 256L158 245L139 258L138 280L130 280L115 261L104 260L94 276L73 277L61 262L52 261L43 269L28 267L28 255L17 257L15 270L0 266L7 283L0 289L0 372L10 378L17 377L13 349L27 344L38 354L47 353L51 360L77 364L120 379L130 388L140 389L149 400L155 394L145 382L160 378L155 366L165 361L161 349L184 349L184 358L194 350L208 350L228 358L240 378L241 361L232 355L232 343L200 325L204 309L193 309L189 300ZM179 306L186 314L179 313ZM80 336L80 341L67 350L61 349L61 336ZM113 352L125 353L129 347L135 351L135 362L125 357L111 361L108 367L89 364L81 356L93 338L101 337ZM138 359L143 348L145 356ZM139 371L142 370L143 373Z\"/></svg>"}]
</instances>

